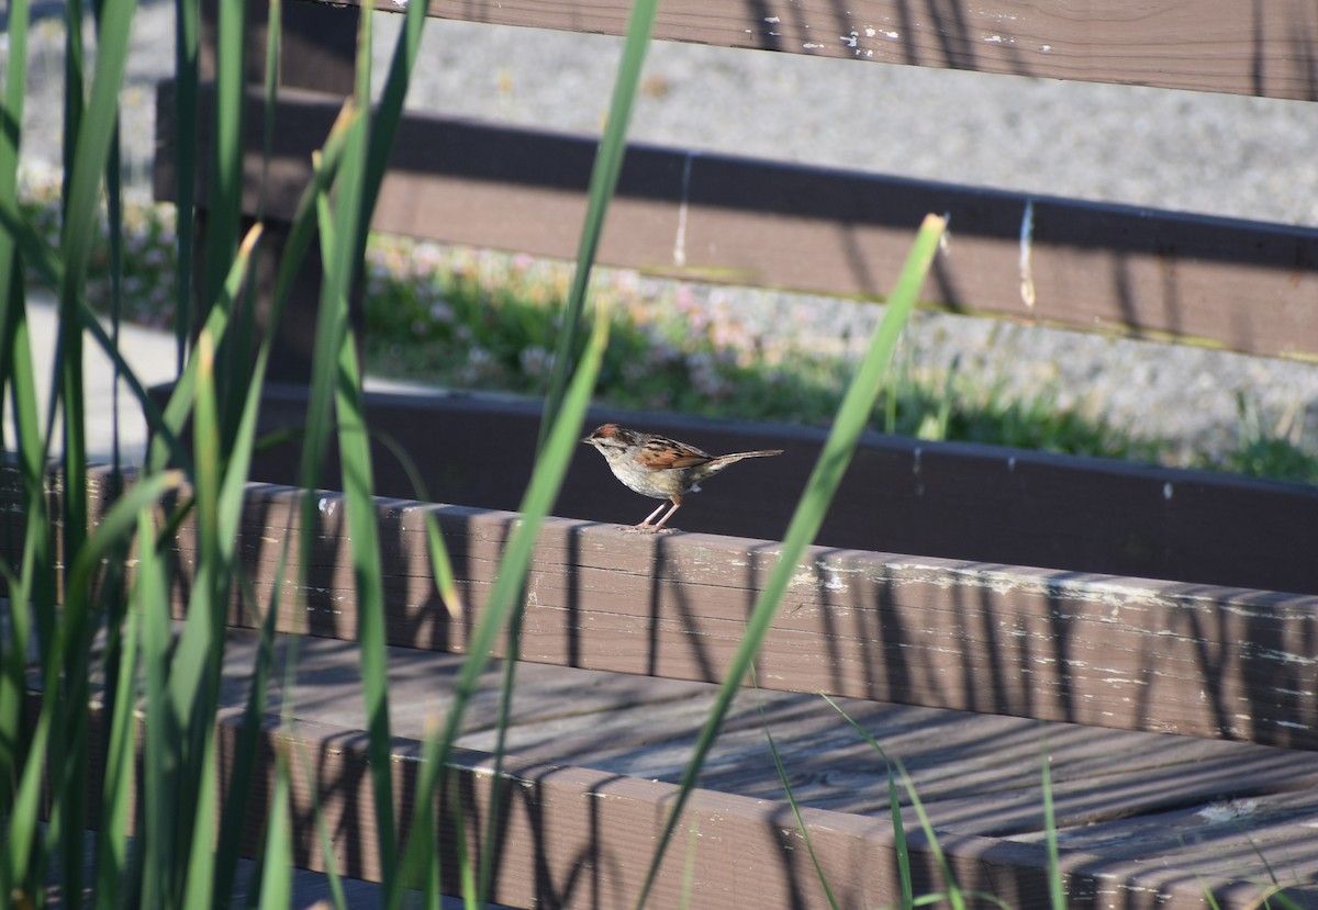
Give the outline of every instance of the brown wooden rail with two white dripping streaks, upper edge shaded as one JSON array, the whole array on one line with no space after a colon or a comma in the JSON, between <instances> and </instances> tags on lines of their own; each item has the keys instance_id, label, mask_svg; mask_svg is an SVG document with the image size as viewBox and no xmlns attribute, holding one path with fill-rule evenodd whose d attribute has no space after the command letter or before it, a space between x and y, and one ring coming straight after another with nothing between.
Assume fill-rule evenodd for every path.
<instances>
[{"instance_id":1,"label":"brown wooden rail with two white dripping streaks, upper edge shaded","mask_svg":"<svg viewBox=\"0 0 1318 910\"><path fill-rule=\"evenodd\" d=\"M210 119L203 92L199 128ZM156 192L171 198L174 105ZM261 104L249 99L249 109ZM291 219L340 99L281 94L273 158L249 117L245 211ZM204 146L204 141L203 141ZM373 227L572 258L594 141L409 115ZM199 169L204 174L204 166ZM702 281L880 299L928 212L948 213L924 304L1082 331L1318 357L1318 230L633 146L600 261ZM1023 241L1023 237L1027 240ZM1028 266L1023 271L1021 262Z\"/></svg>"}]
</instances>

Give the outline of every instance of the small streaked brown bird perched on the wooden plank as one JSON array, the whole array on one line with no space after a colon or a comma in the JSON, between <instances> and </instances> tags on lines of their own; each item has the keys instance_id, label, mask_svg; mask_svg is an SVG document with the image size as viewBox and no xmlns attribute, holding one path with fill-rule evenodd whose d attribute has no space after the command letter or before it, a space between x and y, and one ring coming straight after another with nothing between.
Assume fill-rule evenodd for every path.
<instances>
[{"instance_id":1,"label":"small streaked brown bird perched on the wooden plank","mask_svg":"<svg viewBox=\"0 0 1318 910\"><path fill-rule=\"evenodd\" d=\"M659 508L650 512L646 520L637 525L655 531L663 528L664 523L672 518L672 514L681 506L684 495L700 491L700 482L705 478L713 477L742 458L767 458L783 454L782 449L767 449L763 452L735 452L716 458L693 445L677 442L667 436L638 433L618 424L604 424L581 441L597 448L609 462L613 475L627 487L642 496L672 502L672 508L662 519L655 522L655 516L664 510L667 502L660 503Z\"/></svg>"}]
</instances>

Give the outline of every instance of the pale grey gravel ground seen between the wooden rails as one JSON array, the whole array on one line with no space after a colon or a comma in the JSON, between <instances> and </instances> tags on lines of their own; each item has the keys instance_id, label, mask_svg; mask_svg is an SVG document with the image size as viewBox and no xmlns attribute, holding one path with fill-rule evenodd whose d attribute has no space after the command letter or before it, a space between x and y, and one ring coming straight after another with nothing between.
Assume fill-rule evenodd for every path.
<instances>
[{"instance_id":1,"label":"pale grey gravel ground seen between the wooden rails","mask_svg":"<svg viewBox=\"0 0 1318 910\"><path fill-rule=\"evenodd\" d=\"M61 5L45 4L30 51L25 150L58 161ZM377 59L399 17L377 14ZM0 36L0 41L4 37ZM173 66L173 7L141 8L125 105L127 167L145 183L154 83ZM3 43L0 43L3 50ZM410 105L596 132L621 41L431 21ZM546 74L552 74L547 79ZM656 43L633 120L638 141L882 171L1035 194L1318 227L1318 119L1306 105L1236 97L805 59ZM953 225L953 230L956 225ZM824 336L863 328L878 307L705 288L753 325L809 308ZM1244 394L1275 425L1304 417L1318 446L1318 367L1176 345L1115 341L921 315L905 356L1008 388L1054 388L1135 433L1222 448Z\"/></svg>"}]
</instances>

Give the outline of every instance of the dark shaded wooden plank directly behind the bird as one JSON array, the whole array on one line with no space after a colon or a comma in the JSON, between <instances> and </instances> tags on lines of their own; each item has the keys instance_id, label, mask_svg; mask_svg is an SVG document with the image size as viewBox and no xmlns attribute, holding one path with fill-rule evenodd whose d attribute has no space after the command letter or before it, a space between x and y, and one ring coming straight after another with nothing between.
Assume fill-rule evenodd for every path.
<instances>
[{"instance_id":1,"label":"dark shaded wooden plank directly behind the bird","mask_svg":"<svg viewBox=\"0 0 1318 910\"><path fill-rule=\"evenodd\" d=\"M384 445L373 452L381 495L515 510L531 475L540 406L507 396L372 394L372 427L415 462L424 491ZM270 388L266 431L304 423L306 390ZM721 474L691 496L676 524L738 537L782 537L824 431L680 415L593 411L708 452L786 449ZM481 440L506 440L492 448ZM443 440L443 445L436 445ZM295 483L299 449L257 458L252 477ZM333 453L326 483L337 486ZM648 504L647 504L648 503ZM635 523L654 503L613 479L587 446L556 515ZM816 543L1185 582L1318 594L1318 489L998 446L929 444L867 433Z\"/></svg>"}]
</instances>

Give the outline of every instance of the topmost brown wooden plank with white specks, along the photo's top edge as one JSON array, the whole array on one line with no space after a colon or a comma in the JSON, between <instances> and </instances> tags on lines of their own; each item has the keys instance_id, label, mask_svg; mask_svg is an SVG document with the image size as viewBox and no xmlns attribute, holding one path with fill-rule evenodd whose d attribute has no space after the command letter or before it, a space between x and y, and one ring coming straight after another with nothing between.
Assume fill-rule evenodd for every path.
<instances>
[{"instance_id":1,"label":"topmost brown wooden plank with white specks, along the photo's top edge","mask_svg":"<svg viewBox=\"0 0 1318 910\"><path fill-rule=\"evenodd\" d=\"M398 12L406 1L374 5ZM623 34L630 8L626 0L428 4L431 16L444 18L604 34ZM654 34L880 63L1318 99L1318 12L1305 0L666 0ZM882 99L865 103L880 107Z\"/></svg>"}]
</instances>

